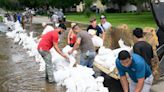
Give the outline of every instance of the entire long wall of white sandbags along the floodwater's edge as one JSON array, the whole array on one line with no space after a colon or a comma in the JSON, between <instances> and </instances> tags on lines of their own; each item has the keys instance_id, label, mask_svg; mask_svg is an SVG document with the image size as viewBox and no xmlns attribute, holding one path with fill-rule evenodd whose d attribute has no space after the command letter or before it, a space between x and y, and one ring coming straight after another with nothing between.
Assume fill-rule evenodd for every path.
<instances>
[{"instance_id":1,"label":"entire long wall of white sandbags along the floodwater's edge","mask_svg":"<svg viewBox=\"0 0 164 92\"><path fill-rule=\"evenodd\" d=\"M7 32L6 35L15 39L16 43L22 45L27 50L30 56L35 56L36 60L40 62L40 71L45 70L45 62L37 51L37 41L33 38L33 33L28 36L25 32L20 32L19 24L15 23L14 32ZM17 36L15 36L17 35ZM108 89L103 86L104 79L102 77L94 78L94 71L81 65L73 67L76 63L76 51L72 55L68 54L72 48L66 46L63 52L68 55L69 61L63 58L56 52L54 48L50 50L52 54L52 62L54 64L54 78L58 85L66 86L67 92L108 92Z\"/></svg>"}]
</instances>

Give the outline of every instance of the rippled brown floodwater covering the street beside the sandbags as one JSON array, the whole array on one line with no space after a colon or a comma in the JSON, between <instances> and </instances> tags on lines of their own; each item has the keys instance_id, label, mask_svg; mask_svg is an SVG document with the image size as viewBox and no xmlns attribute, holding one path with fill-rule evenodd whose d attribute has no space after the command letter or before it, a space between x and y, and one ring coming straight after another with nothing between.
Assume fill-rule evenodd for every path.
<instances>
[{"instance_id":1,"label":"rippled brown floodwater covering the street beside the sandbags","mask_svg":"<svg viewBox=\"0 0 164 92\"><path fill-rule=\"evenodd\" d=\"M5 28L0 23L0 29ZM39 29L39 28L38 28ZM41 31L36 30L35 35ZM65 92L65 88L45 81L39 64L21 46L0 32L0 92Z\"/></svg>"}]
</instances>

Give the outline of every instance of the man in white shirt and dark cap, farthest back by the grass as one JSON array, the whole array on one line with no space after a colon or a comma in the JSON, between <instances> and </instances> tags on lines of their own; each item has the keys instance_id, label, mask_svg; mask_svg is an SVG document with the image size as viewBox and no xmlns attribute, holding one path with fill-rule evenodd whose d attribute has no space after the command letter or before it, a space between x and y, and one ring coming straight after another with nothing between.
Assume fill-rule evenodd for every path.
<instances>
[{"instance_id":1,"label":"man in white shirt and dark cap, farthest back by the grass","mask_svg":"<svg viewBox=\"0 0 164 92\"><path fill-rule=\"evenodd\" d=\"M112 25L111 25L109 22L107 22L106 16L101 15L101 16L100 16L100 22L101 22L101 23L99 24L99 26L100 26L100 28L101 28L102 30L104 30L104 32L110 31L110 30L111 30Z\"/></svg>"}]
</instances>

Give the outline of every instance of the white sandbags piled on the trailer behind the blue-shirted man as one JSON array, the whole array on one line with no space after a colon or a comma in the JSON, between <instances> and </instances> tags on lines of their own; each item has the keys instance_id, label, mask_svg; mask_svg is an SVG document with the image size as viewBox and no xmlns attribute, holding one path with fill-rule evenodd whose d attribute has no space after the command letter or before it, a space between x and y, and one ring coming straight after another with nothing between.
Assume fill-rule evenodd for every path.
<instances>
[{"instance_id":1,"label":"white sandbags piled on the trailer behind the blue-shirted man","mask_svg":"<svg viewBox=\"0 0 164 92\"><path fill-rule=\"evenodd\" d=\"M116 67L115 61L118 57L118 53L122 50L127 50L130 52L132 49L131 47L126 46L122 39L119 40L119 45L120 48L114 50L105 47L100 47L99 52L95 57L95 62L108 68L110 71L113 71Z\"/></svg>"}]
</instances>

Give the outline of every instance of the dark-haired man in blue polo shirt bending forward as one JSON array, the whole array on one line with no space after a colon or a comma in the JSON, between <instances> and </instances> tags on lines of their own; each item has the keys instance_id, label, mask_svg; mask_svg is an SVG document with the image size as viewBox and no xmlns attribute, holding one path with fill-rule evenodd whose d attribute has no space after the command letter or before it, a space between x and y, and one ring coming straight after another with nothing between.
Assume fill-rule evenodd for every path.
<instances>
[{"instance_id":1,"label":"dark-haired man in blue polo shirt bending forward","mask_svg":"<svg viewBox=\"0 0 164 92\"><path fill-rule=\"evenodd\" d=\"M116 59L116 67L120 75L124 92L150 92L153 75L149 65L138 54L123 50ZM126 72L130 77L128 82Z\"/></svg>"}]
</instances>

